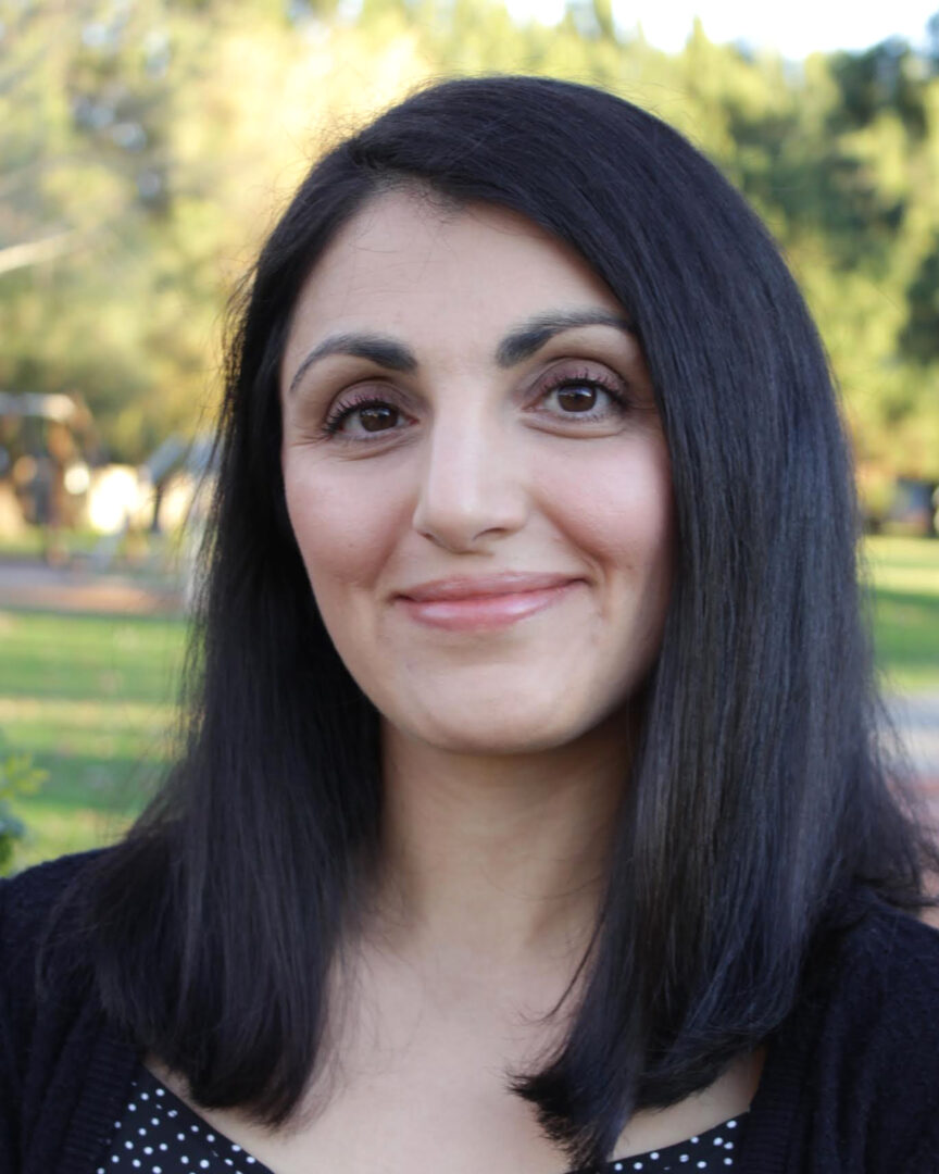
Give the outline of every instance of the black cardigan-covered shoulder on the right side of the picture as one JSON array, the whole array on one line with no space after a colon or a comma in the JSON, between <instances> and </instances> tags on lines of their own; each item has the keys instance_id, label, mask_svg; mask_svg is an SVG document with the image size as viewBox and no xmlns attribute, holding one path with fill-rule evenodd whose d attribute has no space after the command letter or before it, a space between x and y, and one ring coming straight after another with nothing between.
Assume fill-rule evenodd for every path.
<instances>
[{"instance_id":1,"label":"black cardigan-covered shoulder on the right side of the picture","mask_svg":"<svg viewBox=\"0 0 939 1174\"><path fill-rule=\"evenodd\" d=\"M873 893L819 947L771 1043L761 1140L792 1138L819 1172L932 1169L939 1146L939 930ZM756 1141L755 1141L756 1143Z\"/></svg>"}]
</instances>

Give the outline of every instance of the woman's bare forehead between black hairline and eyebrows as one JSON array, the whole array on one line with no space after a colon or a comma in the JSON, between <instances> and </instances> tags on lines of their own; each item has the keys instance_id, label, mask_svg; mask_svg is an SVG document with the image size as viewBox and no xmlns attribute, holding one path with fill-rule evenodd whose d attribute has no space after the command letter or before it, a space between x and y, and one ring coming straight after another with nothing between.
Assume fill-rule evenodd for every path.
<instances>
[{"instance_id":1,"label":"woman's bare forehead between black hairline and eyebrows","mask_svg":"<svg viewBox=\"0 0 939 1174\"><path fill-rule=\"evenodd\" d=\"M335 331L380 330L420 346L486 349L545 310L621 310L572 248L489 204L386 193L352 217L297 299L284 371Z\"/></svg>"}]
</instances>

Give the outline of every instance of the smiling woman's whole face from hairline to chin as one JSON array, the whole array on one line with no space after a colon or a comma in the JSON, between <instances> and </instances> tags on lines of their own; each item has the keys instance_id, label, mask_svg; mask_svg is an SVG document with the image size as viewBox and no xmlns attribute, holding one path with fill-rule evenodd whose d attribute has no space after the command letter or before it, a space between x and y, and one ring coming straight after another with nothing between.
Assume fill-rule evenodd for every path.
<instances>
[{"instance_id":1,"label":"smiling woman's whole face from hairline to chin","mask_svg":"<svg viewBox=\"0 0 939 1174\"><path fill-rule=\"evenodd\" d=\"M378 197L298 299L286 504L350 673L461 753L622 708L668 606L669 459L636 338L566 245L489 205Z\"/></svg>"}]
</instances>

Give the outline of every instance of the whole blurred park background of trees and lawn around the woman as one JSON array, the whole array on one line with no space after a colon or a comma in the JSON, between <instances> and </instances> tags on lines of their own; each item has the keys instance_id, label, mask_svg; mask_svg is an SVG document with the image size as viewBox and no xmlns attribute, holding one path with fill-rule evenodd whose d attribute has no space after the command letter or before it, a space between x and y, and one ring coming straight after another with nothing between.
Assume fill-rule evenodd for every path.
<instances>
[{"instance_id":1,"label":"whole blurred park background of trees and lawn around the woman","mask_svg":"<svg viewBox=\"0 0 939 1174\"><path fill-rule=\"evenodd\" d=\"M170 761L227 298L319 151L452 74L622 94L769 223L843 390L879 670L939 801L939 14L784 56L700 20L660 48L642 7L0 0L0 870L119 835Z\"/></svg>"}]
</instances>

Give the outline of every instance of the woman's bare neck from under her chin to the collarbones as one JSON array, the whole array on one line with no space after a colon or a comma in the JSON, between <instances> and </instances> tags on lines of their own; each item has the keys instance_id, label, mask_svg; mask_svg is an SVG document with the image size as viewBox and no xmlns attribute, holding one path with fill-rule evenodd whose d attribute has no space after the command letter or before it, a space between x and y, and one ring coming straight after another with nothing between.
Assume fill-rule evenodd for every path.
<instances>
[{"instance_id":1,"label":"woman's bare neck from under her chin to the collarbones","mask_svg":"<svg viewBox=\"0 0 939 1174\"><path fill-rule=\"evenodd\" d=\"M385 942L493 976L580 957L602 897L624 741L621 727L599 729L556 750L495 757L386 727Z\"/></svg>"}]
</instances>

